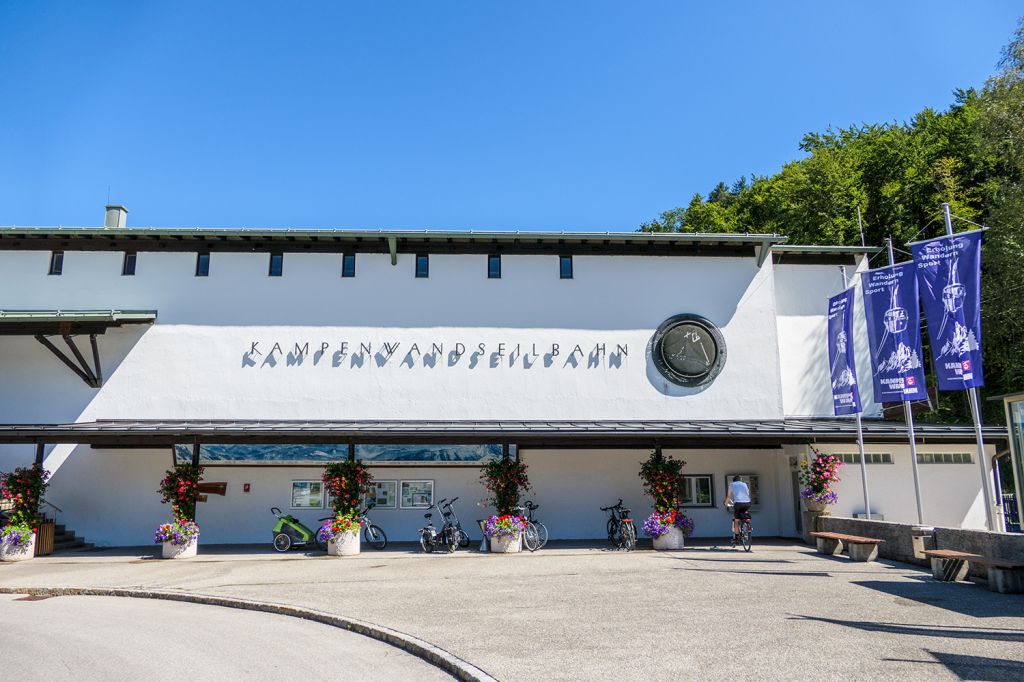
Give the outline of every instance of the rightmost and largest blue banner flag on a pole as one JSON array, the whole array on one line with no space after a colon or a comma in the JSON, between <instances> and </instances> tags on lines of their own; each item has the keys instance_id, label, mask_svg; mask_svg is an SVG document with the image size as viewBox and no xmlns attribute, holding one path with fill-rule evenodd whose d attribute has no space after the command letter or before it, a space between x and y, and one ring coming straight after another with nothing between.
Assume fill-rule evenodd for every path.
<instances>
[{"instance_id":1,"label":"rightmost and largest blue banner flag on a pole","mask_svg":"<svg viewBox=\"0 0 1024 682\"><path fill-rule=\"evenodd\" d=\"M984 386L981 369L981 230L910 245L939 390Z\"/></svg>"}]
</instances>

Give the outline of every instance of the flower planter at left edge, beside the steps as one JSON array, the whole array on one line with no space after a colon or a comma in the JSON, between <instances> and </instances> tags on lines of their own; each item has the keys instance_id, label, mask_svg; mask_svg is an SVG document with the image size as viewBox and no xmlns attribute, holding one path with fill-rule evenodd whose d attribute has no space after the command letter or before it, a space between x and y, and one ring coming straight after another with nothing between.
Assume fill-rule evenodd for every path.
<instances>
[{"instance_id":1,"label":"flower planter at left edge, beside the steps","mask_svg":"<svg viewBox=\"0 0 1024 682\"><path fill-rule=\"evenodd\" d=\"M49 477L39 464L0 474L0 500L11 507L7 525L0 528L0 561L26 561L36 556L39 503Z\"/></svg>"}]
</instances>

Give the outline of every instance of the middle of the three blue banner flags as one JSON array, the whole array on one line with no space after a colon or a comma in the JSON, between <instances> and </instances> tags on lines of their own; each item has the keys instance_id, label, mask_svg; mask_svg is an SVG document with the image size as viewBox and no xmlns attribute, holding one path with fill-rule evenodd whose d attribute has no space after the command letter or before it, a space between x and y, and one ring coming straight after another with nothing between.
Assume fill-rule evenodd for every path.
<instances>
[{"instance_id":1,"label":"middle of the three blue banner flags","mask_svg":"<svg viewBox=\"0 0 1024 682\"><path fill-rule=\"evenodd\" d=\"M860 273L871 350L877 402L920 400L926 396L921 364L921 309L913 263Z\"/></svg>"}]
</instances>

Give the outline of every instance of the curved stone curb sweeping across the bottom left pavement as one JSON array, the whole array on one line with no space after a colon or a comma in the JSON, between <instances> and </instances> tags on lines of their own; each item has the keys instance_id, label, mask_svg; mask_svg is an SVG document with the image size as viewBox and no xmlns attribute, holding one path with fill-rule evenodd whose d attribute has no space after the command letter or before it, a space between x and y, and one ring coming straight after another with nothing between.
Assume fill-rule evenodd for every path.
<instances>
[{"instance_id":1,"label":"curved stone curb sweeping across the bottom left pavement","mask_svg":"<svg viewBox=\"0 0 1024 682\"><path fill-rule=\"evenodd\" d=\"M165 599L167 601L182 601L191 604L204 604L206 606L224 606L226 608L241 608L249 611L262 611L264 613L275 613L278 615L288 615L291 617L312 621L333 628L340 628L349 632L354 632L371 639L390 644L402 649L408 653L423 658L432 666L439 668L456 679L464 682L498 682L498 679L484 673L476 666L463 660L454 653L434 646L430 642L424 641L413 635L403 632L377 626L364 621L327 613L312 608L301 606L291 606L289 604L276 604L265 601L251 601L249 599L237 599L233 597L213 597L201 594L189 594L186 592L161 592L154 590L129 590L123 588L16 588L0 587L0 594L26 594L26 595L46 595L51 597L66 596L94 596L94 597L133 597L136 599Z\"/></svg>"}]
</instances>

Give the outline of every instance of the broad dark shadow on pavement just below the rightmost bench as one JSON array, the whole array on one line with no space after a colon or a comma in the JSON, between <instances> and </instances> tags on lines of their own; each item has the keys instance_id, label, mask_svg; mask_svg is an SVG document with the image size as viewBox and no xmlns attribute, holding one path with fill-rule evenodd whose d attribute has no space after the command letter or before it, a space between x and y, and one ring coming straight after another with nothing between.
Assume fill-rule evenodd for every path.
<instances>
[{"instance_id":1,"label":"broad dark shadow on pavement just below the rightmost bench","mask_svg":"<svg viewBox=\"0 0 1024 682\"><path fill-rule=\"evenodd\" d=\"M973 585L939 583L934 580L905 583L854 581L852 585L977 619L1024 616L1024 597L997 594Z\"/></svg>"}]
</instances>

